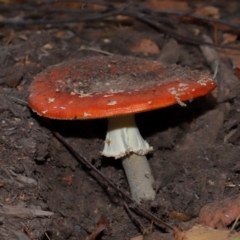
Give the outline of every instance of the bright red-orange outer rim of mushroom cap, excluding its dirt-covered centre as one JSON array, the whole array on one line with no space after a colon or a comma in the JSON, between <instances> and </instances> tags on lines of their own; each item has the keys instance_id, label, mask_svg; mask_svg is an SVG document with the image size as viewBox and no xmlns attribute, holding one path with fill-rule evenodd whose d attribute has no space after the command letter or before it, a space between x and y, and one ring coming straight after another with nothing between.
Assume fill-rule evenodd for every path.
<instances>
[{"instance_id":1,"label":"bright red-orange outer rim of mushroom cap, excluding its dirt-covered centre","mask_svg":"<svg viewBox=\"0 0 240 240\"><path fill-rule=\"evenodd\" d=\"M163 64L159 63L159 65ZM55 68L58 67L61 68L62 64L55 66ZM46 77L49 71L51 72L51 68L35 78L30 87L28 104L37 114L54 119L105 118L150 111L176 103L184 106L184 101L206 95L216 87L210 77L201 74L197 81L176 79L173 82L159 83L131 92L71 95L45 86L47 81L42 78ZM43 87L42 90L41 87Z\"/></svg>"}]
</instances>

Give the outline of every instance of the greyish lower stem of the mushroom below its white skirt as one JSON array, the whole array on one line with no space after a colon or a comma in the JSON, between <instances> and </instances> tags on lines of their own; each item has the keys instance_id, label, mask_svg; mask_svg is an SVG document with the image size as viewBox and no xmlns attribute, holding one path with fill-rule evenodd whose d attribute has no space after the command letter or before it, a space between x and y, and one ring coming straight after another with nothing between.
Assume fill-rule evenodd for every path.
<instances>
[{"instance_id":1,"label":"greyish lower stem of the mushroom below its white skirt","mask_svg":"<svg viewBox=\"0 0 240 240\"><path fill-rule=\"evenodd\" d=\"M156 196L152 186L154 179L146 156L132 153L123 158L122 165L132 198L138 203L153 200Z\"/></svg>"}]
</instances>

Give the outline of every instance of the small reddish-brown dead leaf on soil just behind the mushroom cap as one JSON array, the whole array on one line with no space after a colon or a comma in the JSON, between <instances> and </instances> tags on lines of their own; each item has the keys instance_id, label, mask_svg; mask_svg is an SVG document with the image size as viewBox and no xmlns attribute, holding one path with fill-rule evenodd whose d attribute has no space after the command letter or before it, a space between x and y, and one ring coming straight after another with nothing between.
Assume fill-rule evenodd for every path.
<instances>
[{"instance_id":1,"label":"small reddish-brown dead leaf on soil just behind the mushroom cap","mask_svg":"<svg viewBox=\"0 0 240 240\"><path fill-rule=\"evenodd\" d=\"M146 38L142 38L137 44L133 45L130 49L134 53L150 53L150 54L159 54L160 50L158 45Z\"/></svg>"}]
</instances>

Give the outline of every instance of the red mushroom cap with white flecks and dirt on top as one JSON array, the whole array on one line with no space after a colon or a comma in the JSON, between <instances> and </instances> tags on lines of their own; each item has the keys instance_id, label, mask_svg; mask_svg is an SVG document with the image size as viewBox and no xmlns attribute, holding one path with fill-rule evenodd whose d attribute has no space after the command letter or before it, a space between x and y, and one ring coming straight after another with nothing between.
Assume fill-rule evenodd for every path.
<instances>
[{"instance_id":1,"label":"red mushroom cap with white flecks and dirt on top","mask_svg":"<svg viewBox=\"0 0 240 240\"><path fill-rule=\"evenodd\" d=\"M96 56L52 66L38 74L29 106L57 119L89 119L166 107L216 87L205 73L129 56Z\"/></svg>"}]
</instances>

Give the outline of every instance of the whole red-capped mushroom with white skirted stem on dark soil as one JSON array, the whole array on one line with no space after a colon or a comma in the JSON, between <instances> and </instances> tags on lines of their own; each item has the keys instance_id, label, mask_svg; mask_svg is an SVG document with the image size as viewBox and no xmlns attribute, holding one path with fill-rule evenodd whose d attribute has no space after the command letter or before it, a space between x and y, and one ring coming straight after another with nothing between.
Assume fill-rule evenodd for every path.
<instances>
[{"instance_id":1,"label":"whole red-capped mushroom with white skirted stem on dark soil","mask_svg":"<svg viewBox=\"0 0 240 240\"><path fill-rule=\"evenodd\" d=\"M53 119L108 118L102 155L122 159L132 198L155 198L142 138L134 114L203 96L216 87L204 73L129 56L73 59L38 74L28 104Z\"/></svg>"}]
</instances>

